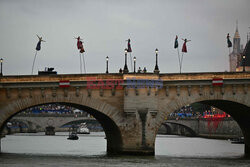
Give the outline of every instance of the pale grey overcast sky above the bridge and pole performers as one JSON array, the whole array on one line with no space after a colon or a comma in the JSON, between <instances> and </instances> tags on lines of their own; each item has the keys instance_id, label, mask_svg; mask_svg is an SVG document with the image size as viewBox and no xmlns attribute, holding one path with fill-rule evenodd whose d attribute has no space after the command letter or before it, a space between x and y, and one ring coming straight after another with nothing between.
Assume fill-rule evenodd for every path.
<instances>
[{"instance_id":1,"label":"pale grey overcast sky above the bridge and pole performers","mask_svg":"<svg viewBox=\"0 0 250 167\"><path fill-rule=\"evenodd\" d=\"M225 71L229 69L226 35L233 37L238 19L245 45L249 6L249 0L1 0L3 72L31 74L36 34L46 40L37 55L36 73L44 67L54 67L60 74L79 73L74 36L83 38L88 73L105 72L106 56L110 72L123 68L128 38L137 67L153 71L158 48L160 71L179 72L175 35L179 35L180 47L180 38L191 40L183 72Z\"/></svg>"}]
</instances>

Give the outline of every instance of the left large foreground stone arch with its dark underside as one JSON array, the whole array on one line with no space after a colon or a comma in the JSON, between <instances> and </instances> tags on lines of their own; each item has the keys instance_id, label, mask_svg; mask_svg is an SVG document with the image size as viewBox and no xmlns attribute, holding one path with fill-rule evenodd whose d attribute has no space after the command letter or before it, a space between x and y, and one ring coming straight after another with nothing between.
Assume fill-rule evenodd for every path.
<instances>
[{"instance_id":1,"label":"left large foreground stone arch with its dark underside","mask_svg":"<svg viewBox=\"0 0 250 167\"><path fill-rule=\"evenodd\" d=\"M22 112L30 107L58 103L67 106L72 106L80 110L84 110L97 119L102 125L107 139L107 152L117 153L122 149L122 136L119 129L119 123L122 116L121 112L116 107L88 96L57 96L57 97L41 97L19 98L9 102L7 105L0 108L4 113L0 119L0 132L3 126L17 113Z\"/></svg>"}]
</instances>

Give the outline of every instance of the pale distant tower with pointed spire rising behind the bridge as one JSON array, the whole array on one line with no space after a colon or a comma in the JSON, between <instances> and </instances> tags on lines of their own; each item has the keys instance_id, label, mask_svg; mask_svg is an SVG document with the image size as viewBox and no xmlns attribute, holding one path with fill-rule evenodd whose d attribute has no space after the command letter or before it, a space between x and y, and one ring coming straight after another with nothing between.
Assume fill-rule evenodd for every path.
<instances>
[{"instance_id":1,"label":"pale distant tower with pointed spire rising behind the bridge","mask_svg":"<svg viewBox=\"0 0 250 167\"><path fill-rule=\"evenodd\" d=\"M242 48L240 46L240 34L238 30L238 21L236 21L236 31L233 38L233 52L229 54L230 71L236 71L240 65Z\"/></svg>"}]
</instances>

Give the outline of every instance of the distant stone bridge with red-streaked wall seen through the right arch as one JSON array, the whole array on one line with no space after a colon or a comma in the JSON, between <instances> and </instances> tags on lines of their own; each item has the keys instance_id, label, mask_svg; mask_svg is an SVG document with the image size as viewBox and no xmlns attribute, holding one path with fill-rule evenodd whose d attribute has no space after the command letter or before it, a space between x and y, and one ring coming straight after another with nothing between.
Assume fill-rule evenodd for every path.
<instances>
[{"instance_id":1,"label":"distant stone bridge with red-streaked wall seen through the right arch","mask_svg":"<svg viewBox=\"0 0 250 167\"><path fill-rule=\"evenodd\" d=\"M181 118L163 123L169 134L208 138L237 138L241 129L232 118Z\"/></svg>"}]
</instances>

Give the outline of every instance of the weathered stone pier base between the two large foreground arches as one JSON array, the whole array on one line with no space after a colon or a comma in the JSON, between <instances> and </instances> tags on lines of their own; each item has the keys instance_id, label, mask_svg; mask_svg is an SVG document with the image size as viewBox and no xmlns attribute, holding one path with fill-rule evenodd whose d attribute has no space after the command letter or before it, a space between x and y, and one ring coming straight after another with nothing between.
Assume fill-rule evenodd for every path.
<instances>
[{"instance_id":1,"label":"weathered stone pier base between the two large foreground arches","mask_svg":"<svg viewBox=\"0 0 250 167\"><path fill-rule=\"evenodd\" d=\"M126 111L126 123L122 128L123 145L121 154L155 154L155 118L149 109Z\"/></svg>"}]
</instances>

